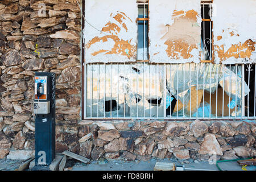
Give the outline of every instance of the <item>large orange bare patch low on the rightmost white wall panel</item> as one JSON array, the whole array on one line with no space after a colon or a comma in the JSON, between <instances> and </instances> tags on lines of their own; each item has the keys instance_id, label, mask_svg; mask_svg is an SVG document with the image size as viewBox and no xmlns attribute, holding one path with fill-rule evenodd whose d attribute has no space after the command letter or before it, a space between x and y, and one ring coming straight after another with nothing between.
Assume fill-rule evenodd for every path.
<instances>
[{"instance_id":1,"label":"large orange bare patch low on the rightmost white wall panel","mask_svg":"<svg viewBox=\"0 0 256 182\"><path fill-rule=\"evenodd\" d=\"M255 42L251 39L246 40L245 43L239 43L232 45L228 51L224 51L224 46L215 46L215 50L218 53L218 57L221 61L228 59L229 57L238 58L248 58L251 57L251 52L255 51Z\"/></svg>"}]
</instances>

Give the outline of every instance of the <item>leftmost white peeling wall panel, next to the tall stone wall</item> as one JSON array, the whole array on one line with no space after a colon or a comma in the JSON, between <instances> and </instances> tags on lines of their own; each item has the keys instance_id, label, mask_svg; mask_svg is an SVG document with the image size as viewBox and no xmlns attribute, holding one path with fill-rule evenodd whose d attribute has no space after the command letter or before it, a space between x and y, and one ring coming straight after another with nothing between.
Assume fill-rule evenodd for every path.
<instances>
[{"instance_id":1,"label":"leftmost white peeling wall panel, next to the tall stone wall","mask_svg":"<svg viewBox=\"0 0 256 182\"><path fill-rule=\"evenodd\" d=\"M85 0L85 62L136 61L136 0Z\"/></svg>"}]
</instances>

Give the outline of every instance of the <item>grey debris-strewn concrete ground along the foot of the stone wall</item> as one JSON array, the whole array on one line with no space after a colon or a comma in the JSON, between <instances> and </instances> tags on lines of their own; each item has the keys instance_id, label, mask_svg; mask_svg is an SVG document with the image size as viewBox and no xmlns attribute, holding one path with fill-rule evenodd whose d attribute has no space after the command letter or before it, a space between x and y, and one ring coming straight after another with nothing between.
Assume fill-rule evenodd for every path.
<instances>
[{"instance_id":1,"label":"grey debris-strewn concrete ground along the foot of the stone wall","mask_svg":"<svg viewBox=\"0 0 256 182\"><path fill-rule=\"evenodd\" d=\"M147 162L100 159L97 162L92 161L90 164L85 164L75 159L67 160L67 164L69 163L69 166L72 166L69 168L71 171L153 171L156 162L175 163L175 166L183 165L185 171L200 171L200 169L203 171L219 171L216 165L209 164L207 161L197 162L197 160L195 161L196 163L191 162L189 164L184 164L175 159L151 159ZM24 163L23 160L0 159L0 171L14 171L22 163ZM218 166L223 171L242 171L242 166L237 162L218 163ZM256 166L246 166L246 169L247 171L256 171Z\"/></svg>"}]
</instances>

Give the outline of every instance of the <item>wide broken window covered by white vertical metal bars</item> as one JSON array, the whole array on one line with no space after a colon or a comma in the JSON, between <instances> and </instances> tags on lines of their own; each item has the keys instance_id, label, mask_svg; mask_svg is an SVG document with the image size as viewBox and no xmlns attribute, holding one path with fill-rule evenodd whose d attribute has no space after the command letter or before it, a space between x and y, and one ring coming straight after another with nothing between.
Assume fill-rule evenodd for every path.
<instances>
[{"instance_id":1,"label":"wide broken window covered by white vertical metal bars","mask_svg":"<svg viewBox=\"0 0 256 182\"><path fill-rule=\"evenodd\" d=\"M256 118L255 64L96 63L85 67L85 118ZM176 99L176 104L170 103L169 115L167 93Z\"/></svg>"}]
</instances>

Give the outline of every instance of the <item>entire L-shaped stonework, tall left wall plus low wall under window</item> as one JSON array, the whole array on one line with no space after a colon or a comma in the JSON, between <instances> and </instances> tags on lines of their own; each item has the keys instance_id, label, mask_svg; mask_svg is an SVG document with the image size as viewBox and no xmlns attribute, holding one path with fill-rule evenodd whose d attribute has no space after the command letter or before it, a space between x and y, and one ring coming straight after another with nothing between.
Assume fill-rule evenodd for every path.
<instances>
[{"instance_id":1,"label":"entire L-shaped stonework, tall left wall plus low wall under window","mask_svg":"<svg viewBox=\"0 0 256 182\"><path fill-rule=\"evenodd\" d=\"M92 160L256 155L255 122L80 120L80 32L76 1L0 2L0 159L34 155L31 104L38 71L56 73L56 152Z\"/></svg>"}]
</instances>

